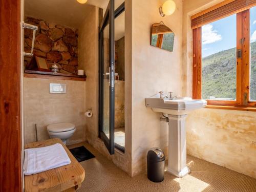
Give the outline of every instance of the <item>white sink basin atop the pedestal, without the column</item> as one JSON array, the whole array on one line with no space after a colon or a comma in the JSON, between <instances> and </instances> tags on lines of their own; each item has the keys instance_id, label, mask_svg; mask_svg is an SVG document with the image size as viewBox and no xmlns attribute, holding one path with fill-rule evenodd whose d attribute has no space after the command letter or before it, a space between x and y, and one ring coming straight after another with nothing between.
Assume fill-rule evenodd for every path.
<instances>
[{"instance_id":1,"label":"white sink basin atop the pedestal, without the column","mask_svg":"<svg viewBox=\"0 0 256 192\"><path fill-rule=\"evenodd\" d=\"M146 98L146 106L153 111L169 115L186 115L193 110L204 108L205 100L191 99L190 97L178 97L172 100L164 98Z\"/></svg>"}]
</instances>

